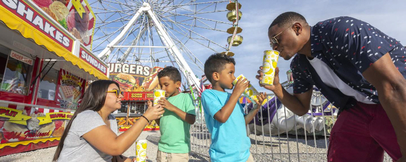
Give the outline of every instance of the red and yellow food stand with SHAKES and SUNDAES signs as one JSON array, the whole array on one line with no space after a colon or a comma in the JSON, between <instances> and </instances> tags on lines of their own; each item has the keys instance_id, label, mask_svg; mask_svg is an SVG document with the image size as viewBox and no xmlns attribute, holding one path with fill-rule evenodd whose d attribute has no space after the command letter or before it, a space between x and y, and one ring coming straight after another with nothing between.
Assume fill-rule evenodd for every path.
<instances>
[{"instance_id":1,"label":"red and yellow food stand with SHAKES and SUNDAES signs","mask_svg":"<svg viewBox=\"0 0 406 162\"><path fill-rule=\"evenodd\" d=\"M94 14L86 0L1 0L0 15L0 156L56 146L88 83L108 79Z\"/></svg>"}]
</instances>

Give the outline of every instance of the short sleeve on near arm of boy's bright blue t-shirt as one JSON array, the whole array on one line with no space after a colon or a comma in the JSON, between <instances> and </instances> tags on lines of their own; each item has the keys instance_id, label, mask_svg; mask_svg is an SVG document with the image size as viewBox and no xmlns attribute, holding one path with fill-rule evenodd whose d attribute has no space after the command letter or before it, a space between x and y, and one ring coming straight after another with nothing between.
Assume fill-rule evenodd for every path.
<instances>
[{"instance_id":1,"label":"short sleeve on near arm of boy's bright blue t-shirt","mask_svg":"<svg viewBox=\"0 0 406 162\"><path fill-rule=\"evenodd\" d=\"M204 91L202 93L202 106L205 113L208 113L213 119L214 115L223 107L216 95L209 91Z\"/></svg>"}]
</instances>

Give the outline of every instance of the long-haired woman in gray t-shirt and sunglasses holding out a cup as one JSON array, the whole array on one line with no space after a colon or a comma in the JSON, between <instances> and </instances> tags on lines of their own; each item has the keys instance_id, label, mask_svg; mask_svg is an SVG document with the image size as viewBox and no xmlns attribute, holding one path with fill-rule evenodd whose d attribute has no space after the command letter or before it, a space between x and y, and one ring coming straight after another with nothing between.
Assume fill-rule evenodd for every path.
<instances>
[{"instance_id":1,"label":"long-haired woman in gray t-shirt and sunglasses holding out a cup","mask_svg":"<svg viewBox=\"0 0 406 162\"><path fill-rule=\"evenodd\" d=\"M82 103L67 124L53 162L132 162L122 156L141 134L144 126L164 113L160 105L147 109L126 132L117 135L111 113L121 108L123 92L109 80L90 83Z\"/></svg>"}]
</instances>

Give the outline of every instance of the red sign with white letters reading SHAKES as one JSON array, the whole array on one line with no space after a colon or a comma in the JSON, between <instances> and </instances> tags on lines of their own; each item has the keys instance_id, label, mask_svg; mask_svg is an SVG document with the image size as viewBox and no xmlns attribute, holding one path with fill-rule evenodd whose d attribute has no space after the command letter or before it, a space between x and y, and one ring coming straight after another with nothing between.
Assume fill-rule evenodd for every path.
<instances>
[{"instance_id":1,"label":"red sign with white letters reading SHAKES","mask_svg":"<svg viewBox=\"0 0 406 162\"><path fill-rule=\"evenodd\" d=\"M72 51L73 40L24 0L0 0L0 5L65 49Z\"/></svg>"}]
</instances>

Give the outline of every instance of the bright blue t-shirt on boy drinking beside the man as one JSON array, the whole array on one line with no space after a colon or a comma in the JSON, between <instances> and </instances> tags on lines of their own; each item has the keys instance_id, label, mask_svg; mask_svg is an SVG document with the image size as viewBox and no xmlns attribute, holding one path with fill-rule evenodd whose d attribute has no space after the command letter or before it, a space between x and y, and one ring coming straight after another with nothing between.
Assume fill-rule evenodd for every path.
<instances>
[{"instance_id":1,"label":"bright blue t-shirt on boy drinking beside the man","mask_svg":"<svg viewBox=\"0 0 406 162\"><path fill-rule=\"evenodd\" d=\"M212 138L209 149L212 162L246 162L250 155L251 141L247 136L244 110L240 103L237 102L225 123L214 119L214 115L222 109L230 95L213 89L202 93L204 118Z\"/></svg>"}]
</instances>

